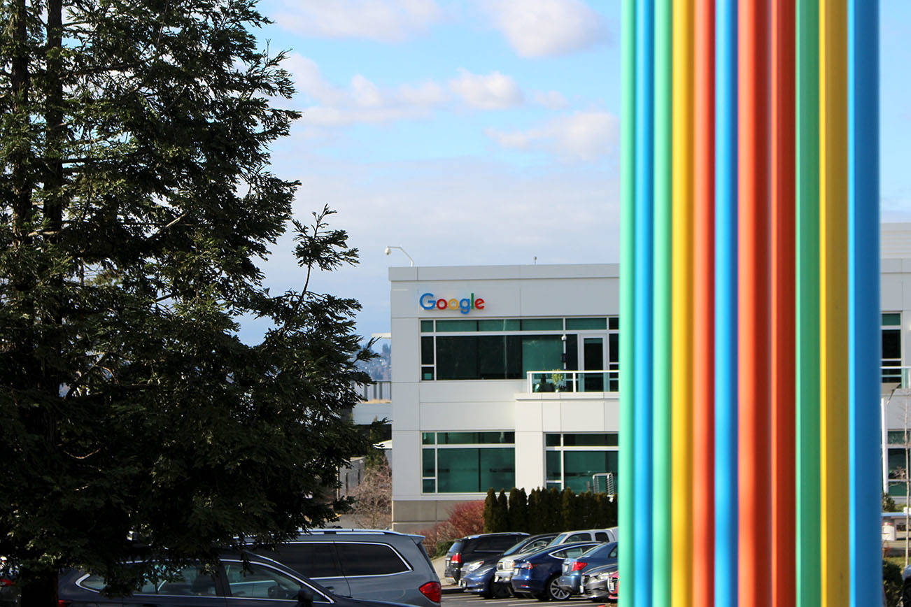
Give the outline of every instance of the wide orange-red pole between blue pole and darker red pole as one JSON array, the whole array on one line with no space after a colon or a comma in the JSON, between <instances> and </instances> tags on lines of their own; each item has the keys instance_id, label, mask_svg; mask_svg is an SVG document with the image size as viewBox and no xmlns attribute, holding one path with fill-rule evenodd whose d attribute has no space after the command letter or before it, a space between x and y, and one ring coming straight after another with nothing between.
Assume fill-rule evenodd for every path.
<instances>
[{"instance_id":1,"label":"wide orange-red pole between blue pole and darker red pole","mask_svg":"<svg viewBox=\"0 0 911 607\"><path fill-rule=\"evenodd\" d=\"M768 601L771 532L771 362L768 3L738 15L738 606Z\"/></svg>"}]
</instances>

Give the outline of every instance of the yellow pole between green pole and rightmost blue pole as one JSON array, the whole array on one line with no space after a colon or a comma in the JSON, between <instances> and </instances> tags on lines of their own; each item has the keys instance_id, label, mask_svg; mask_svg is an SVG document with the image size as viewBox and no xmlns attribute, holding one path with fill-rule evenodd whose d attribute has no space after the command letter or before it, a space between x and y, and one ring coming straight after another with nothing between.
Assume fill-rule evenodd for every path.
<instances>
[{"instance_id":1,"label":"yellow pole between green pole and rightmost blue pole","mask_svg":"<svg viewBox=\"0 0 911 607\"><path fill-rule=\"evenodd\" d=\"M848 600L847 5L819 3L823 605Z\"/></svg>"}]
</instances>

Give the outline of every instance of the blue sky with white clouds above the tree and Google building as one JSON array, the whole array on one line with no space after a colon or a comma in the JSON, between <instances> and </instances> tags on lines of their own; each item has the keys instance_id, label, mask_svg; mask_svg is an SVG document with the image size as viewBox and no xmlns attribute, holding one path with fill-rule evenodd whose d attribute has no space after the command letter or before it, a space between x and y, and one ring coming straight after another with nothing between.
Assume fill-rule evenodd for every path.
<instances>
[{"instance_id":1,"label":"blue sky with white clouds above the tree and Google building","mask_svg":"<svg viewBox=\"0 0 911 607\"><path fill-rule=\"evenodd\" d=\"M389 330L387 268L619 258L619 0L261 0L303 111L273 166L361 263L311 280ZM911 220L911 3L882 2L882 200ZM302 275L281 241L273 288ZM314 286L315 282L315 286ZM244 339L262 327L245 322Z\"/></svg>"}]
</instances>

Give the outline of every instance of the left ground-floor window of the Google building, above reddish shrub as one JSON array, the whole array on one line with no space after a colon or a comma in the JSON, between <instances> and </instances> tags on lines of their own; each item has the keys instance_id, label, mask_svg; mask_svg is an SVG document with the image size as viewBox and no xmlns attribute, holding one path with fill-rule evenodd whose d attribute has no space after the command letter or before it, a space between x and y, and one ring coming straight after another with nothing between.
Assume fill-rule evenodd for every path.
<instances>
[{"instance_id":1,"label":"left ground-floor window of the Google building, above reddish shrub","mask_svg":"<svg viewBox=\"0 0 911 607\"><path fill-rule=\"evenodd\" d=\"M424 432L422 491L483 493L516 484L515 432Z\"/></svg>"}]
</instances>

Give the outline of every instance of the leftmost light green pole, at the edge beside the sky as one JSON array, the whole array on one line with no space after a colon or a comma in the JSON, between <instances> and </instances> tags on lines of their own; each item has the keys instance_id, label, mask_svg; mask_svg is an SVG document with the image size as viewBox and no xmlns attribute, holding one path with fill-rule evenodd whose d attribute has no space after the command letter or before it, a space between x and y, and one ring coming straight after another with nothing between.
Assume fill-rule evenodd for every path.
<instances>
[{"instance_id":1,"label":"leftmost light green pole, at the edge beside the sky","mask_svg":"<svg viewBox=\"0 0 911 607\"><path fill-rule=\"evenodd\" d=\"M619 527L632 537L635 504L633 503L633 327L635 326L635 169L636 169L636 5L623 0L621 7L621 90L620 100L620 435L619 435ZM633 579L633 553L636 546L628 542L619 554L619 568L630 572ZM632 603L633 585L624 589Z\"/></svg>"}]
</instances>

